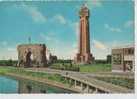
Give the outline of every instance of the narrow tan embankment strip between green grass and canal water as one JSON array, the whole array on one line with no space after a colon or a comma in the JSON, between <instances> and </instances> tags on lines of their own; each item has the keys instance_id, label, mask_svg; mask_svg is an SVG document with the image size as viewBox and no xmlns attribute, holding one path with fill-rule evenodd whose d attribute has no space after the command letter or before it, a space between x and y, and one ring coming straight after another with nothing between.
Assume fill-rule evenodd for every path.
<instances>
[{"instance_id":1,"label":"narrow tan embankment strip between green grass and canal water","mask_svg":"<svg viewBox=\"0 0 137 99\"><path fill-rule=\"evenodd\" d=\"M25 75L19 75L19 74L14 74L14 73L6 73L5 75L10 76L10 77L14 77L16 79L26 79L26 80L32 80L32 81L48 84L48 85L55 86L55 87L58 87L58 88L61 88L61 89L72 91L72 93L73 92L74 93L81 93L81 91L79 89L69 87L69 86L66 86L65 84L62 84L62 83L59 83L59 82L56 82L56 81L51 81L51 80L48 80L46 78L25 76Z\"/></svg>"}]
</instances>

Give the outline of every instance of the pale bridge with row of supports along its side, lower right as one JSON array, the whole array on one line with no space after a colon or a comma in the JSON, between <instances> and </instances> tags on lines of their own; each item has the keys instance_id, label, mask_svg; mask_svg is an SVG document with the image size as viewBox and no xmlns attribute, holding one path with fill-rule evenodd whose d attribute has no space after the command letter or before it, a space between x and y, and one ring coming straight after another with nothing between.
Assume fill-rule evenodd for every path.
<instances>
[{"instance_id":1,"label":"pale bridge with row of supports along its side, lower right","mask_svg":"<svg viewBox=\"0 0 137 99\"><path fill-rule=\"evenodd\" d=\"M117 86L111 83L106 83L95 78L77 75L62 75L70 84L71 87L77 88L81 93L132 93L132 90Z\"/></svg>"}]
</instances>

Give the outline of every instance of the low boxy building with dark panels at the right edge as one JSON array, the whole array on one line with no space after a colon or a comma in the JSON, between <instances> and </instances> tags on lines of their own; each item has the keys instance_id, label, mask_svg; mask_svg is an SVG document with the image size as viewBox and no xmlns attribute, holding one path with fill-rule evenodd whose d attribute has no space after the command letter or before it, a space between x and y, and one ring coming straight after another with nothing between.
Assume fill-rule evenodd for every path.
<instances>
[{"instance_id":1,"label":"low boxy building with dark panels at the right edge","mask_svg":"<svg viewBox=\"0 0 137 99\"><path fill-rule=\"evenodd\" d=\"M134 46L125 46L112 49L112 72L134 72Z\"/></svg>"}]
</instances>

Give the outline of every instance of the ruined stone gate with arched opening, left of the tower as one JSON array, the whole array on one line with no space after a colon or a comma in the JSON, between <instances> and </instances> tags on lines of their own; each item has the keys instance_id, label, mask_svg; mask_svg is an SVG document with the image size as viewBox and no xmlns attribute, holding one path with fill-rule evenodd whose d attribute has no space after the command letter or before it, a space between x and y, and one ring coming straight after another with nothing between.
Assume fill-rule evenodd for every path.
<instances>
[{"instance_id":1,"label":"ruined stone gate with arched opening, left of the tower","mask_svg":"<svg viewBox=\"0 0 137 99\"><path fill-rule=\"evenodd\" d=\"M47 65L45 44L18 45L18 66L44 67Z\"/></svg>"}]
</instances>

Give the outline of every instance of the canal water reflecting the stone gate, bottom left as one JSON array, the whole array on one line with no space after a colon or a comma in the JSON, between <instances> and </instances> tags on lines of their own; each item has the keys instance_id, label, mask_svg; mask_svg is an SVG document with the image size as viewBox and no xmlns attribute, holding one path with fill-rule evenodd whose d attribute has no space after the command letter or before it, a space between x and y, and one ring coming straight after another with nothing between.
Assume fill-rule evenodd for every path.
<instances>
[{"instance_id":1,"label":"canal water reflecting the stone gate, bottom left","mask_svg":"<svg viewBox=\"0 0 137 99\"><path fill-rule=\"evenodd\" d=\"M0 76L0 93L74 93L30 80Z\"/></svg>"}]
</instances>

